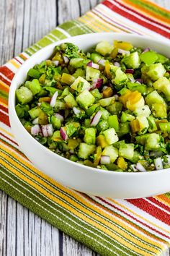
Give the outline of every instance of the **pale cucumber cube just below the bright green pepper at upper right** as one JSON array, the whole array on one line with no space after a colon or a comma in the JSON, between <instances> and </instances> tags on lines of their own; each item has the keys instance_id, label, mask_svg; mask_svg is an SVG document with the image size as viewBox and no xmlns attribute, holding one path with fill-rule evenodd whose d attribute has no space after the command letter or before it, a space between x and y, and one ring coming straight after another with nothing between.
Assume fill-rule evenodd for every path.
<instances>
[{"instance_id":1,"label":"pale cucumber cube just below the bright green pepper at upper right","mask_svg":"<svg viewBox=\"0 0 170 256\"><path fill-rule=\"evenodd\" d=\"M148 72L146 73L148 77L151 78L152 81L158 80L160 77L164 77L166 73L166 69L161 63L151 64L148 68Z\"/></svg>"}]
</instances>

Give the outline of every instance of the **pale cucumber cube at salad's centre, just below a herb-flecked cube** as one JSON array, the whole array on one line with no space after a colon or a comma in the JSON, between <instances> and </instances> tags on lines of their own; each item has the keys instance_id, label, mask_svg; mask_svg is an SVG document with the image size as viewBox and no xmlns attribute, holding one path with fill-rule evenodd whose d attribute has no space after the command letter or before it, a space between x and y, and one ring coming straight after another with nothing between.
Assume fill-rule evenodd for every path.
<instances>
[{"instance_id":1,"label":"pale cucumber cube at salad's centre, just below a herb-flecked cube","mask_svg":"<svg viewBox=\"0 0 170 256\"><path fill-rule=\"evenodd\" d=\"M89 93L89 90L84 90L82 93L80 93L77 98L76 102L81 106L81 108L89 108L95 101L95 98L91 93Z\"/></svg>"}]
</instances>

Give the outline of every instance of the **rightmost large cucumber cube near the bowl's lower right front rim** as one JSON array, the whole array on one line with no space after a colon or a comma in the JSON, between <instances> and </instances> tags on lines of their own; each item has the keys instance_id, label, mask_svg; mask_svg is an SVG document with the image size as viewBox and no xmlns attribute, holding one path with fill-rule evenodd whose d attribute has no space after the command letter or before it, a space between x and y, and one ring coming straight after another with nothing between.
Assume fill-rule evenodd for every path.
<instances>
[{"instance_id":1,"label":"rightmost large cucumber cube near the bowl's lower right front rim","mask_svg":"<svg viewBox=\"0 0 170 256\"><path fill-rule=\"evenodd\" d=\"M160 148L160 136L157 133L151 133L146 138L146 150L158 150Z\"/></svg>"}]
</instances>

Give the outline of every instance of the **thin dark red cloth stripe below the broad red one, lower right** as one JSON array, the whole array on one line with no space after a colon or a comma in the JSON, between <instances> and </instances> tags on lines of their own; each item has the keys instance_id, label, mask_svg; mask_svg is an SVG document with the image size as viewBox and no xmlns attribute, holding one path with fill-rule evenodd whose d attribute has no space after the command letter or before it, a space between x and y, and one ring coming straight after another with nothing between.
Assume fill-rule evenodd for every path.
<instances>
[{"instance_id":1,"label":"thin dark red cloth stripe below the broad red one, lower right","mask_svg":"<svg viewBox=\"0 0 170 256\"><path fill-rule=\"evenodd\" d=\"M129 216L129 217L132 218L133 220L135 220L135 221L137 221L138 223L142 224L143 226L146 226L148 229L151 229L152 231L155 231L156 233L161 234L161 236L164 236L164 237L166 237L167 239L170 239L170 236L166 236L166 234L161 233L161 231L158 231L158 230L156 230L156 229L153 229L153 227L149 226L149 225L146 224L146 223L143 223L143 221L138 220L138 218L135 218L134 216L130 215L130 213L125 212L124 210L118 208L118 207L115 206L115 205L112 205L111 202L105 201L102 197L97 197L97 198L99 198L99 200L101 200L102 202L105 202L107 205L112 206L112 208L115 208L115 209L117 209L117 210L120 210L121 213L124 213L125 215ZM135 223L133 223L133 224L136 225L136 228L138 229L138 224L135 224ZM143 229L143 228L141 228L141 229Z\"/></svg>"}]
</instances>

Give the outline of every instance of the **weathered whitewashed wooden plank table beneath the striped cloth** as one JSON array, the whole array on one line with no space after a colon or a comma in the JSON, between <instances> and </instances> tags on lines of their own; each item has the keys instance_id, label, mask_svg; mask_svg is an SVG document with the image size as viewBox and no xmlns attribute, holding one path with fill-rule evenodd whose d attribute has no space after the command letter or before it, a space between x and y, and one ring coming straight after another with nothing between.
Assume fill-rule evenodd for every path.
<instances>
[{"instance_id":1,"label":"weathered whitewashed wooden plank table beneath the striped cloth","mask_svg":"<svg viewBox=\"0 0 170 256\"><path fill-rule=\"evenodd\" d=\"M169 0L154 0L170 9ZM0 0L0 64L101 0ZM0 256L97 255L0 190ZM166 252L164 255L169 255Z\"/></svg>"}]
</instances>

